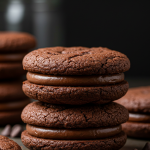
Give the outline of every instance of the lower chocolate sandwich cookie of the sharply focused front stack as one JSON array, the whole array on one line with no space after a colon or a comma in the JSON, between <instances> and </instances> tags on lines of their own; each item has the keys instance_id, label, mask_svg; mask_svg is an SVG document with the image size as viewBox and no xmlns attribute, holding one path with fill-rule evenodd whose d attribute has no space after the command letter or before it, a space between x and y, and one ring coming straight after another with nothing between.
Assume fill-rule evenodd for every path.
<instances>
[{"instance_id":1,"label":"lower chocolate sandwich cookie of the sharply focused front stack","mask_svg":"<svg viewBox=\"0 0 150 150\"><path fill-rule=\"evenodd\" d=\"M32 149L119 149L128 111L117 103L83 106L33 102L22 112L23 144Z\"/></svg>"}]
</instances>

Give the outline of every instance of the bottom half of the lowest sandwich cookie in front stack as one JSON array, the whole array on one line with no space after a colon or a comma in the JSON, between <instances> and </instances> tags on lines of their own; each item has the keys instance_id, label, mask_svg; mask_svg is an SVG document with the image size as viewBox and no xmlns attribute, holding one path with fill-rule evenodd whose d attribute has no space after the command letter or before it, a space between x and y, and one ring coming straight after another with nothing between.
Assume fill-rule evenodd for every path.
<instances>
[{"instance_id":1,"label":"bottom half of the lowest sandwich cookie in front stack","mask_svg":"<svg viewBox=\"0 0 150 150\"><path fill-rule=\"evenodd\" d=\"M116 136L100 140L51 140L33 137L24 131L21 140L29 149L118 150L125 144L126 135L121 132Z\"/></svg>"}]
</instances>

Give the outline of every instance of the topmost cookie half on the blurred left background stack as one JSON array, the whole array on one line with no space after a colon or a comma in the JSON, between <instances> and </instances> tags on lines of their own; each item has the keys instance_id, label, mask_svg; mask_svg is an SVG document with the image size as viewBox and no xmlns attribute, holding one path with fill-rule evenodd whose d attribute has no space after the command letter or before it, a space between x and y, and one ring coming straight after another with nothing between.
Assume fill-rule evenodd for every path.
<instances>
[{"instance_id":1,"label":"topmost cookie half on the blurred left background stack","mask_svg":"<svg viewBox=\"0 0 150 150\"><path fill-rule=\"evenodd\" d=\"M36 46L35 38L23 32L0 32L0 53L28 51Z\"/></svg>"}]
</instances>

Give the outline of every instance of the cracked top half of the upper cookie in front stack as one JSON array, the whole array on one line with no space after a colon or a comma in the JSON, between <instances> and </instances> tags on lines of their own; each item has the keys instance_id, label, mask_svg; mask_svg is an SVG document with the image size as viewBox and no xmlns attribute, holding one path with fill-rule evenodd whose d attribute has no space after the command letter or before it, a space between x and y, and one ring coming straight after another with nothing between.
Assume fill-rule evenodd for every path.
<instances>
[{"instance_id":1,"label":"cracked top half of the upper cookie in front stack","mask_svg":"<svg viewBox=\"0 0 150 150\"><path fill-rule=\"evenodd\" d=\"M126 55L104 47L51 47L28 53L23 68L52 75L100 75L122 73L130 68Z\"/></svg>"}]
</instances>

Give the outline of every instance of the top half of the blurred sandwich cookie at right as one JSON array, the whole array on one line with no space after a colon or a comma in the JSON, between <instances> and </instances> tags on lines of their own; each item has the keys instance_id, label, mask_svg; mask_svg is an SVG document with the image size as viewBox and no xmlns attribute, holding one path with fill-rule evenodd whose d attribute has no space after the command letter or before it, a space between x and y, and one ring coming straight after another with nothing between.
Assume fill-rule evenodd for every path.
<instances>
[{"instance_id":1,"label":"top half of the blurred sandwich cookie at right","mask_svg":"<svg viewBox=\"0 0 150 150\"><path fill-rule=\"evenodd\" d=\"M150 86L130 88L117 103L125 106L129 112L150 113Z\"/></svg>"}]
</instances>

